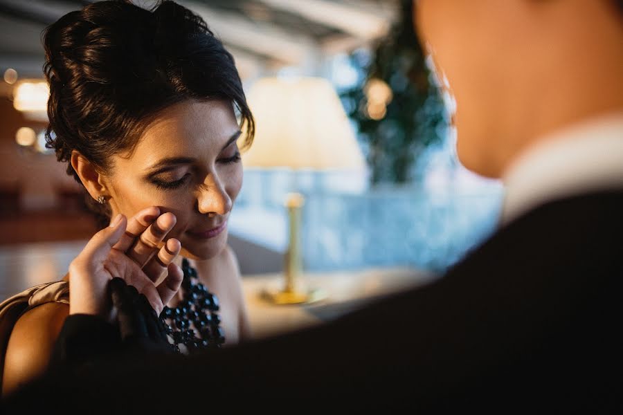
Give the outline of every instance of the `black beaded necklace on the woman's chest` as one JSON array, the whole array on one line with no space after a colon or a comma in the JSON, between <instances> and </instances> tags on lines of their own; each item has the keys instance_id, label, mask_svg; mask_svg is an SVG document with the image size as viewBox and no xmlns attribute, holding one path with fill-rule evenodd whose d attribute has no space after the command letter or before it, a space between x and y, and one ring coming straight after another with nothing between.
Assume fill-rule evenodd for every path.
<instances>
[{"instance_id":1,"label":"black beaded necklace on the woman's chest","mask_svg":"<svg viewBox=\"0 0 623 415\"><path fill-rule=\"evenodd\" d=\"M183 300L175 308L165 306L160 320L164 324L171 347L177 353L194 353L201 349L219 348L225 342L220 327L219 300L197 279L197 270L188 259L182 260L184 279ZM195 335L199 333L199 337ZM183 349L180 349L183 346Z\"/></svg>"}]
</instances>

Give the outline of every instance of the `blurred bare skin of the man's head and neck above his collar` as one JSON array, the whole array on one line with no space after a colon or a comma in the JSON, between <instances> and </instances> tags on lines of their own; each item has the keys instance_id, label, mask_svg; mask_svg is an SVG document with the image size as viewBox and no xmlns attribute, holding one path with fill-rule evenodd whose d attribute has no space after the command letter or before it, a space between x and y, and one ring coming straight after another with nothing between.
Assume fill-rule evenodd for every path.
<instances>
[{"instance_id":1,"label":"blurred bare skin of the man's head and neck above his collar","mask_svg":"<svg viewBox=\"0 0 623 415\"><path fill-rule=\"evenodd\" d=\"M500 177L552 131L623 108L623 0L416 0L458 156Z\"/></svg>"}]
</instances>

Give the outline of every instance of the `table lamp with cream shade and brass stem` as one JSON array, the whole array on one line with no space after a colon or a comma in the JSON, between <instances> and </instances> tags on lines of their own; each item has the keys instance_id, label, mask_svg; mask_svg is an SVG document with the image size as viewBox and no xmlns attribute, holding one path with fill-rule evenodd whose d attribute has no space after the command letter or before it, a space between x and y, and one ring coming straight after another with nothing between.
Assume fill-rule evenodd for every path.
<instances>
[{"instance_id":1,"label":"table lamp with cream shade and brass stem","mask_svg":"<svg viewBox=\"0 0 623 415\"><path fill-rule=\"evenodd\" d=\"M333 86L318 77L263 78L247 94L255 117L255 140L242 155L245 167L289 169L363 169L365 162L350 122ZM300 193L286 197L289 241L285 255L285 284L280 291L263 296L275 304L314 302L323 298L318 290L299 287Z\"/></svg>"}]
</instances>

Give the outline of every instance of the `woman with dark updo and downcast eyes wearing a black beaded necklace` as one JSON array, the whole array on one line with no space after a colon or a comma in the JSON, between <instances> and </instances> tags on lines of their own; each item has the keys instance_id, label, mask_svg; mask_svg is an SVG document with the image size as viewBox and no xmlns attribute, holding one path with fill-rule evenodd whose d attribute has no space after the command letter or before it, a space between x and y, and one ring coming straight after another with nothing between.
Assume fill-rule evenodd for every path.
<instances>
[{"instance_id":1,"label":"woman with dark updo and downcast eyes wearing a black beaded necklace","mask_svg":"<svg viewBox=\"0 0 623 415\"><path fill-rule=\"evenodd\" d=\"M3 393L46 368L67 315L114 321L113 277L164 311L183 353L248 338L226 241L242 186L237 141L244 128L250 145L254 124L231 55L172 1L151 11L93 3L51 25L44 46L48 146L84 186L100 224L111 225L62 282L19 297L30 305L8 340Z\"/></svg>"}]
</instances>

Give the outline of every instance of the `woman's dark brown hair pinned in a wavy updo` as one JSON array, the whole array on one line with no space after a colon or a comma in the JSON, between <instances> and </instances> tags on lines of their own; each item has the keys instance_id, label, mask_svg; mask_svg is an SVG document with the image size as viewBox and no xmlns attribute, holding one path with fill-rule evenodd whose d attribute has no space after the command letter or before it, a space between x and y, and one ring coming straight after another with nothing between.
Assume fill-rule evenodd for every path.
<instances>
[{"instance_id":1,"label":"woman's dark brown hair pinned in a wavy updo","mask_svg":"<svg viewBox=\"0 0 623 415\"><path fill-rule=\"evenodd\" d=\"M173 1L145 10L129 1L101 1L46 28L44 72L50 84L47 147L67 162L76 150L106 172L113 154L131 151L159 111L184 100L227 100L255 124L234 59L204 19ZM108 205L87 205L109 220Z\"/></svg>"}]
</instances>

